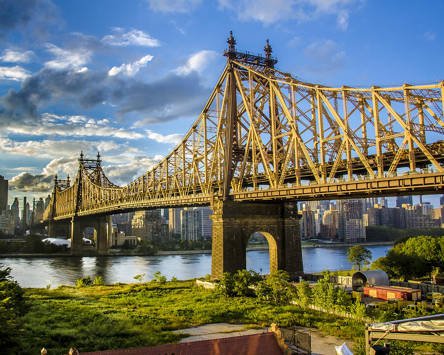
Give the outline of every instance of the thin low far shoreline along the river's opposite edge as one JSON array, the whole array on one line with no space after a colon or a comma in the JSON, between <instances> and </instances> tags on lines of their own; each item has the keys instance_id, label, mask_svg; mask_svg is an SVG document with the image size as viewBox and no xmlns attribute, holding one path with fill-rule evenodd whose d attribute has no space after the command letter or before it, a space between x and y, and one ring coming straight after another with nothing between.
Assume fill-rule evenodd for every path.
<instances>
[{"instance_id":1,"label":"thin low far shoreline along the river's opposite edge","mask_svg":"<svg viewBox=\"0 0 444 355\"><path fill-rule=\"evenodd\" d=\"M337 244L317 244L305 246L303 245L302 249L313 249L313 248L350 248L356 245L360 245L362 247L377 247L377 246L388 246L393 245L394 242L364 242L364 243L337 243ZM268 247L255 247L255 248L247 248L247 251L256 251L256 250L268 250ZM72 255L71 253L10 253L10 254L0 254L0 258L52 258L52 257L78 257L78 256L159 256L159 255L186 255L186 254L211 254L211 250L169 250L169 251L158 251L155 254L141 254L137 253L136 250L131 252L132 250L127 250L125 253L122 253L120 249L110 249L109 254L97 254L94 252L83 253L81 255Z\"/></svg>"}]
</instances>

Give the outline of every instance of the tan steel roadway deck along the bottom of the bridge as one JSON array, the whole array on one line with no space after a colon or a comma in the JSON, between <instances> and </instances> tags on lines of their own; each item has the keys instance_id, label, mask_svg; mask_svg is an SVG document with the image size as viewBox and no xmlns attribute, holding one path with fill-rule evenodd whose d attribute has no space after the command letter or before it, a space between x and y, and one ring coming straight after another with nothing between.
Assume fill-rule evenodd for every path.
<instances>
[{"instance_id":1,"label":"tan steel roadway deck along the bottom of the bridge","mask_svg":"<svg viewBox=\"0 0 444 355\"><path fill-rule=\"evenodd\" d=\"M337 181L326 184L288 185L277 189L243 189L231 192L235 201L307 201L345 198L367 198L378 196L428 195L442 193L444 173L404 174L386 178ZM156 208L179 208L186 206L210 205L217 194L178 196L170 199L156 199L132 202L109 202L93 209L77 212L77 216L107 215ZM73 217L74 214L55 216L55 220ZM43 222L43 221L42 221Z\"/></svg>"}]
</instances>

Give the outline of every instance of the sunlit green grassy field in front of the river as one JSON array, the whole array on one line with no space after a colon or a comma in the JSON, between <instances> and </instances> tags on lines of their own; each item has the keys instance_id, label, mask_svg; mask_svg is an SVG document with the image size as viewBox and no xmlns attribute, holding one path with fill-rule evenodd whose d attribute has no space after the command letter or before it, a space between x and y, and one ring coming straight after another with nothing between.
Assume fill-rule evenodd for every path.
<instances>
[{"instance_id":1,"label":"sunlit green grassy field in front of the river","mask_svg":"<svg viewBox=\"0 0 444 355\"><path fill-rule=\"evenodd\" d=\"M198 288L194 281L114 284L53 290L27 288L22 354L67 354L174 343L185 337L170 330L216 322L264 326L272 321L319 328L357 340L364 324L297 306L274 306L256 298L230 297Z\"/></svg>"}]
</instances>

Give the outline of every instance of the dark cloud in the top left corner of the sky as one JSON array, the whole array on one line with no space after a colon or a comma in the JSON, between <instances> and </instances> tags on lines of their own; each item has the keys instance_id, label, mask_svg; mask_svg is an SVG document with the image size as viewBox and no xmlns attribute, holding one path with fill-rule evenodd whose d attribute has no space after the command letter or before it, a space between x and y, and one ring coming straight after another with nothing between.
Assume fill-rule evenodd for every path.
<instances>
[{"instance_id":1,"label":"dark cloud in the top left corner of the sky","mask_svg":"<svg viewBox=\"0 0 444 355\"><path fill-rule=\"evenodd\" d=\"M0 0L0 39L26 28L32 36L42 37L52 24L60 22L57 7L50 0Z\"/></svg>"}]
</instances>

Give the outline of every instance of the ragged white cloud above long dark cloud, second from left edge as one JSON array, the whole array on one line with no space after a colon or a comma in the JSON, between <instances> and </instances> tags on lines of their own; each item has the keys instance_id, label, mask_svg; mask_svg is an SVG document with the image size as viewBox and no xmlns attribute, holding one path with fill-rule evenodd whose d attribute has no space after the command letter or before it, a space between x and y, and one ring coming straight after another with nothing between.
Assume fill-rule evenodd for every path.
<instances>
[{"instance_id":1,"label":"ragged white cloud above long dark cloud, second from left edge","mask_svg":"<svg viewBox=\"0 0 444 355\"><path fill-rule=\"evenodd\" d=\"M84 47L63 49L54 44L47 43L48 52L54 54L55 59L45 62L45 66L52 69L78 68L91 60L92 51ZM84 71L83 68L80 71Z\"/></svg>"}]
</instances>

